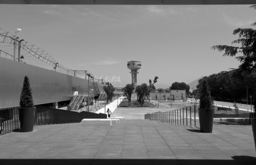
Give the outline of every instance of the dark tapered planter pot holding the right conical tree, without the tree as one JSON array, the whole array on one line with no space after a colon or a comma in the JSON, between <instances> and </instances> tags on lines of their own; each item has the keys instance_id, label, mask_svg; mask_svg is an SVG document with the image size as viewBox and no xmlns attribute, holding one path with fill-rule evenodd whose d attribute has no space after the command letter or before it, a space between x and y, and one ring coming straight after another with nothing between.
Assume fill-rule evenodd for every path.
<instances>
[{"instance_id":1,"label":"dark tapered planter pot holding the right conical tree, without the tree","mask_svg":"<svg viewBox=\"0 0 256 165\"><path fill-rule=\"evenodd\" d=\"M214 109L198 108L198 110L201 132L212 133L212 127L214 124Z\"/></svg>"}]
</instances>

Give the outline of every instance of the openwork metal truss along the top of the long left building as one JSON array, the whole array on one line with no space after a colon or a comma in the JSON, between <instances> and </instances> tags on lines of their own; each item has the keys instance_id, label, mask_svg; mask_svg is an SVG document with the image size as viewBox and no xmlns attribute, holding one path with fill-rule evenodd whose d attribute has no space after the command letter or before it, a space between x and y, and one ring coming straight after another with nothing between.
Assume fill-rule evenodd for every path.
<instances>
[{"instance_id":1,"label":"openwork metal truss along the top of the long left building","mask_svg":"<svg viewBox=\"0 0 256 165\"><path fill-rule=\"evenodd\" d=\"M1 2L1 0L0 0ZM1 4L1 3L0 3ZM17 29L20 31L21 29ZM14 54L14 43L16 39L16 52ZM20 44L20 58L18 58L18 47ZM52 55L43 50L41 47L37 47L36 44L28 42L26 39L17 37L17 34L7 32L0 27L0 57L4 57L9 60L20 60L29 65L42 67L47 70L55 70L66 75L72 75L76 77L86 78L86 73L90 73L88 70L71 70L64 65L61 65L55 60ZM92 74L91 74L92 75Z\"/></svg>"}]
</instances>

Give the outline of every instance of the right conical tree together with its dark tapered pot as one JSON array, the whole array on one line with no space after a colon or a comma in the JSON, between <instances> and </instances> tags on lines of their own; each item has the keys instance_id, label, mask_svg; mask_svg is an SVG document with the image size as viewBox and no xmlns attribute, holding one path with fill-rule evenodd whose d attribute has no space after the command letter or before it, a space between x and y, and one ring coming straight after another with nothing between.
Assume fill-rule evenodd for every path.
<instances>
[{"instance_id":1,"label":"right conical tree together with its dark tapered pot","mask_svg":"<svg viewBox=\"0 0 256 165\"><path fill-rule=\"evenodd\" d=\"M214 123L214 108L213 100L211 99L211 93L206 80L201 81L199 88L199 123L200 130L204 133L211 133Z\"/></svg>"}]
</instances>

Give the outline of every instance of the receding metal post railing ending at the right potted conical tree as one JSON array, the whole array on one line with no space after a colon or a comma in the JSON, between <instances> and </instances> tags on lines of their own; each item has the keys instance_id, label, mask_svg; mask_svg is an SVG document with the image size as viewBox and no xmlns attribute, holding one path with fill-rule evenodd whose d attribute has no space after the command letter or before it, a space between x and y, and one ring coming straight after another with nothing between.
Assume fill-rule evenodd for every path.
<instances>
[{"instance_id":1,"label":"receding metal post railing ending at the right potted conical tree","mask_svg":"<svg viewBox=\"0 0 256 165\"><path fill-rule=\"evenodd\" d=\"M198 110L196 105L169 110L166 112L156 112L145 114L145 119L150 121L160 121L176 126L198 126Z\"/></svg>"}]
</instances>

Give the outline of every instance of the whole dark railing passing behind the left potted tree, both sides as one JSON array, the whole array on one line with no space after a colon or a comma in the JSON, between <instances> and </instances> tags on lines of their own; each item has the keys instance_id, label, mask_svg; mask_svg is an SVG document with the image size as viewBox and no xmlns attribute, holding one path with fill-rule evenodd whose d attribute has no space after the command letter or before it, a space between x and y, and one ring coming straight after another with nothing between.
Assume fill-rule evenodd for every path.
<instances>
[{"instance_id":1,"label":"whole dark railing passing behind the left potted tree, both sides","mask_svg":"<svg viewBox=\"0 0 256 165\"><path fill-rule=\"evenodd\" d=\"M50 125L59 123L79 123L83 118L106 118L106 114L76 112L37 106L35 125ZM19 107L0 108L0 135L20 128Z\"/></svg>"}]
</instances>

